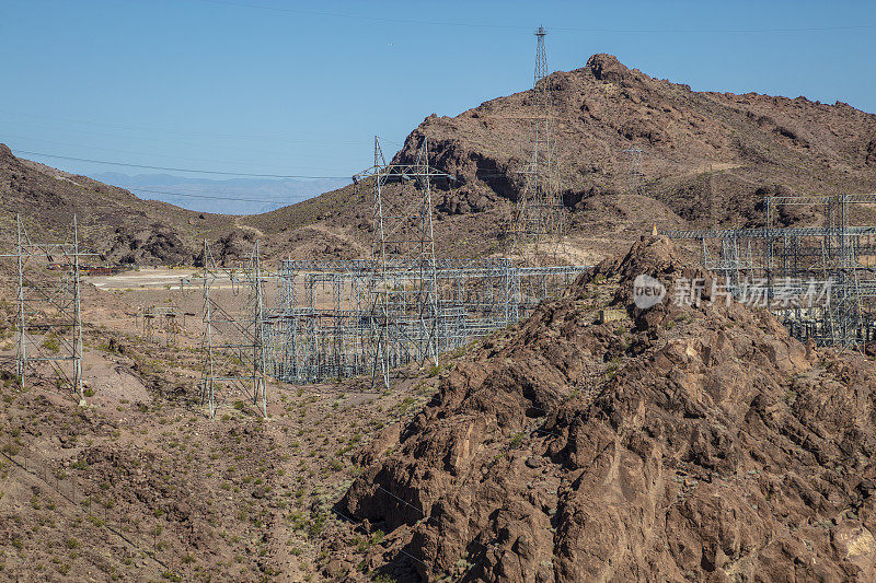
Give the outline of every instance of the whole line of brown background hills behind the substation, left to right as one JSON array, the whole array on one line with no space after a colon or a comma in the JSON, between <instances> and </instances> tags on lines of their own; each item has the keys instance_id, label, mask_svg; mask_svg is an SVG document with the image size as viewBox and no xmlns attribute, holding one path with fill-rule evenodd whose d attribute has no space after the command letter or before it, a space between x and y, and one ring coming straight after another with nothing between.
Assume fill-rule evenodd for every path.
<instances>
[{"instance_id":1,"label":"whole line of brown background hills behind the substation, left to right","mask_svg":"<svg viewBox=\"0 0 876 583\"><path fill-rule=\"evenodd\" d=\"M586 67L555 72L545 82L553 95L563 200L572 213L567 250L578 263L623 250L655 223L759 225L762 199L771 194L876 191L876 115L843 103L695 92L629 69L610 55L595 55ZM434 193L439 255L504 252L502 223L522 186L517 171L530 138L530 100L531 91L523 91L452 118L431 115L395 154L395 162L413 162L428 137L431 164L457 178L436 184ZM633 147L645 151L644 195L627 188L624 151ZM388 191L400 194L396 186ZM240 254L255 236L268 257L351 258L370 249L367 180L232 218L142 201L3 149L0 205L7 215L24 205L53 228L80 209L93 232L90 242L116 260L194 260L205 236L226 256ZM819 220L782 218L788 224Z\"/></svg>"}]
</instances>

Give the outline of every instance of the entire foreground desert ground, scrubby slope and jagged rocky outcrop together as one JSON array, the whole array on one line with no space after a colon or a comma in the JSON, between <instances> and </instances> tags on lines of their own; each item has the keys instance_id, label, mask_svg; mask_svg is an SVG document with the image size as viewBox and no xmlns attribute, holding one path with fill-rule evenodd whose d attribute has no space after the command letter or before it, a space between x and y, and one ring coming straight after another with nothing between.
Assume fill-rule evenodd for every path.
<instances>
[{"instance_id":1,"label":"entire foreground desert ground, scrubby slope and jagged rocky outcrop together","mask_svg":"<svg viewBox=\"0 0 876 583\"><path fill-rule=\"evenodd\" d=\"M647 311L643 272L669 288ZM873 361L737 303L675 305L692 277L647 238L389 389L270 381L267 419L242 395L205 415L197 287L84 288L85 407L18 387L0 304L0 573L873 580ZM172 347L132 318L170 301L192 314Z\"/></svg>"}]
</instances>

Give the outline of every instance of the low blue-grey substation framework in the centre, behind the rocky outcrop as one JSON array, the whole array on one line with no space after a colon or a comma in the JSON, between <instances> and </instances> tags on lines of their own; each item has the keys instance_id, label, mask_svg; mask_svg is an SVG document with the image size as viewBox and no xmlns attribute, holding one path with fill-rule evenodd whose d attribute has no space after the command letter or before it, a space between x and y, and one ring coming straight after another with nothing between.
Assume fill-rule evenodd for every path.
<instances>
[{"instance_id":1,"label":"low blue-grey substation framework in the centre, behind the rocky outcrop","mask_svg":"<svg viewBox=\"0 0 876 583\"><path fill-rule=\"evenodd\" d=\"M438 353L452 351L527 317L538 304L563 293L589 266L518 267L510 259L436 260ZM269 371L290 383L333 382L373 374L374 346L381 341L371 322L371 261L284 260L278 272L280 304L266 314ZM388 288L415 290L410 270L387 271ZM418 276L417 276L418 277ZM429 273L427 277L431 277ZM399 295L400 302L413 303ZM415 319L387 326L388 346L407 346ZM406 354L406 357L405 357ZM415 352L393 352L394 366L416 362ZM382 371L381 371L382 372Z\"/></svg>"}]
</instances>

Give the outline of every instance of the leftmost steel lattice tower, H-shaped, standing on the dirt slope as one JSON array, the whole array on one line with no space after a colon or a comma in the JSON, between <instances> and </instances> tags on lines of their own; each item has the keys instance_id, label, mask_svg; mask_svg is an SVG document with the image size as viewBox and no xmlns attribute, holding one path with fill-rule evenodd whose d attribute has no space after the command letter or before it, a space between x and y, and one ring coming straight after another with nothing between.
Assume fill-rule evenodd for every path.
<instances>
[{"instance_id":1,"label":"leftmost steel lattice tower, H-shaped, standing on the dirt slope","mask_svg":"<svg viewBox=\"0 0 876 583\"><path fill-rule=\"evenodd\" d=\"M15 371L21 386L28 374L39 374L41 363L48 364L83 404L80 259L93 254L79 247L76 215L67 238L58 243L32 241L21 215L15 223L16 250L3 257L15 259L18 266Z\"/></svg>"}]
</instances>

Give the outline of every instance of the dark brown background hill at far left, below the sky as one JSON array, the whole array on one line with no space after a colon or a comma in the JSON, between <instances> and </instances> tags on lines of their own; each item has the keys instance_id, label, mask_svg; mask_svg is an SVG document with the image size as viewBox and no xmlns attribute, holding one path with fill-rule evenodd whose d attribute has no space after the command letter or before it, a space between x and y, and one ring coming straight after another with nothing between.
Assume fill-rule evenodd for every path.
<instances>
[{"instance_id":1,"label":"dark brown background hill at far left, below the sky","mask_svg":"<svg viewBox=\"0 0 876 583\"><path fill-rule=\"evenodd\" d=\"M235 226L234 218L188 211L135 195L87 176L22 160L0 144L0 244L15 241L15 214L21 214L33 240L66 237L73 214L83 247L113 263L192 264L201 255L203 240L217 255L243 253L252 229Z\"/></svg>"}]
</instances>

